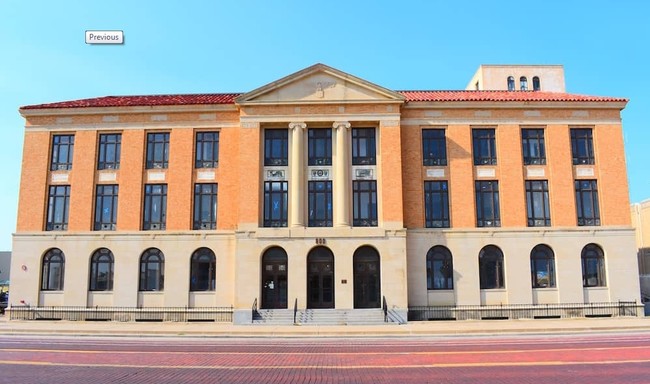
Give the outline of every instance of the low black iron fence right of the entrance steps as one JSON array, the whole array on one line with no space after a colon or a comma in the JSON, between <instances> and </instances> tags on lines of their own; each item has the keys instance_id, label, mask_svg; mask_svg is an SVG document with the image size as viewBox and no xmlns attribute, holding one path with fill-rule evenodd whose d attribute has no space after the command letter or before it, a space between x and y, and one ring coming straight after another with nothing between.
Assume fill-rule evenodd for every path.
<instances>
[{"instance_id":1,"label":"low black iron fence right of the entrance steps","mask_svg":"<svg viewBox=\"0 0 650 384\"><path fill-rule=\"evenodd\" d=\"M409 307L409 321L567 319L575 317L639 316L643 304L636 301L575 304L503 304Z\"/></svg>"}]
</instances>

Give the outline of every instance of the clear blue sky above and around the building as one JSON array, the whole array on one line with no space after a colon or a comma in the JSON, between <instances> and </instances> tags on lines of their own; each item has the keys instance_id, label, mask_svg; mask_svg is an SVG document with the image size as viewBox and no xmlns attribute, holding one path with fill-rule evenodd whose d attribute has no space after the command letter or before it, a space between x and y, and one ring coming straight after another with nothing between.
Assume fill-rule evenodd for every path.
<instances>
[{"instance_id":1,"label":"clear blue sky above and around the building","mask_svg":"<svg viewBox=\"0 0 650 384\"><path fill-rule=\"evenodd\" d=\"M570 93L630 99L630 198L650 198L650 2L0 0L0 250L15 231L21 105L246 92L321 62L395 89L463 89L480 64L563 64ZM84 31L124 31L91 46Z\"/></svg>"}]
</instances>

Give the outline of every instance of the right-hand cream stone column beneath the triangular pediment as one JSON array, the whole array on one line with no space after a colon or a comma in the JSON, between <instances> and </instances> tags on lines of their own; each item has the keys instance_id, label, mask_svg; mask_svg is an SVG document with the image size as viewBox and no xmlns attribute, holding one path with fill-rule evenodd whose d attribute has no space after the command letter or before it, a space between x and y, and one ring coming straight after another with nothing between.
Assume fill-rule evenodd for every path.
<instances>
[{"instance_id":1,"label":"right-hand cream stone column beneath the triangular pediment","mask_svg":"<svg viewBox=\"0 0 650 384\"><path fill-rule=\"evenodd\" d=\"M350 162L348 148L348 130L350 123L337 121L336 129L336 163L334 164L334 226L350 226Z\"/></svg>"}]
</instances>

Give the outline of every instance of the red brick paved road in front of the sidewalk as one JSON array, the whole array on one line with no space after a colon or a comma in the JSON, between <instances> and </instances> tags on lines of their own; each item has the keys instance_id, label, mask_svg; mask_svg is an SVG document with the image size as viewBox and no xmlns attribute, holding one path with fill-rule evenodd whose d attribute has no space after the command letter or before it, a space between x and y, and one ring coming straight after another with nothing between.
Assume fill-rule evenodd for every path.
<instances>
[{"instance_id":1,"label":"red brick paved road in front of the sidewalk","mask_svg":"<svg viewBox=\"0 0 650 384\"><path fill-rule=\"evenodd\" d=\"M0 383L650 383L650 333L228 339L0 337Z\"/></svg>"}]
</instances>

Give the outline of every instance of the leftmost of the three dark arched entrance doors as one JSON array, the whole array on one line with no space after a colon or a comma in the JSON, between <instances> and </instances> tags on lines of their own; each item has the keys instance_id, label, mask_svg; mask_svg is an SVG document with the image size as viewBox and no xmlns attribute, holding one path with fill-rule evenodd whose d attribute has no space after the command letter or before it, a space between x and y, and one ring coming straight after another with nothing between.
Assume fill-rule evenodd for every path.
<instances>
[{"instance_id":1,"label":"leftmost of the three dark arched entrance doors","mask_svg":"<svg viewBox=\"0 0 650 384\"><path fill-rule=\"evenodd\" d=\"M262 309L287 308L287 253L269 248L262 256Z\"/></svg>"}]
</instances>

